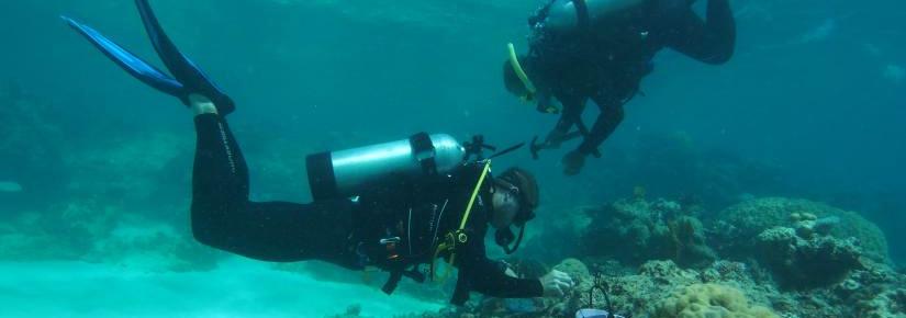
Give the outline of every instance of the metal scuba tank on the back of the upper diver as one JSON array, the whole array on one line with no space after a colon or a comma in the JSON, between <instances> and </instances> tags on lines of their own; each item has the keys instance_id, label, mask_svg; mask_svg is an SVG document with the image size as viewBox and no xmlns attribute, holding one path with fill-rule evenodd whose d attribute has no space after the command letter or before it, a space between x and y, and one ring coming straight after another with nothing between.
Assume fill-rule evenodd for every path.
<instances>
[{"instance_id":1,"label":"metal scuba tank on the back of the upper diver","mask_svg":"<svg viewBox=\"0 0 906 318\"><path fill-rule=\"evenodd\" d=\"M589 22L607 19L617 12L642 4L645 0L584 0ZM572 0L558 0L550 7L545 25L550 31L568 32L579 26L578 9Z\"/></svg>"}]
</instances>

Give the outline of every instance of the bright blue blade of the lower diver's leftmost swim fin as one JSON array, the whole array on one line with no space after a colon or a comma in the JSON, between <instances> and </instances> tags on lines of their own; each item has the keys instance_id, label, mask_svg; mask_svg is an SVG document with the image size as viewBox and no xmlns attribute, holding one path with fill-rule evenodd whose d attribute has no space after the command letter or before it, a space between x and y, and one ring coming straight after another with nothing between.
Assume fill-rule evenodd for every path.
<instances>
[{"instance_id":1,"label":"bright blue blade of the lower diver's leftmost swim fin","mask_svg":"<svg viewBox=\"0 0 906 318\"><path fill-rule=\"evenodd\" d=\"M68 16L60 18L63 18L69 26L81 35L85 35L85 37L107 55L107 57L142 82L171 95L180 95L183 93L182 83L150 66L147 61L135 56L116 43L113 43L113 41L110 41L100 32Z\"/></svg>"}]
</instances>

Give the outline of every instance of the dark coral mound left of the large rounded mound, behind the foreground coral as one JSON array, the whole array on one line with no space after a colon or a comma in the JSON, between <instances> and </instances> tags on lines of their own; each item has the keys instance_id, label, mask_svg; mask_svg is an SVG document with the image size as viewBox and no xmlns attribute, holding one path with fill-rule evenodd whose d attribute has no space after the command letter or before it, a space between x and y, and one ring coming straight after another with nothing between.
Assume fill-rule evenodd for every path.
<instances>
[{"instance_id":1,"label":"dark coral mound left of the large rounded mound, behind the foreground coral","mask_svg":"<svg viewBox=\"0 0 906 318\"><path fill-rule=\"evenodd\" d=\"M704 242L702 223L679 203L641 198L590 208L582 237L589 258L614 258L628 264L673 260L684 266L706 266L716 254Z\"/></svg>"}]
</instances>

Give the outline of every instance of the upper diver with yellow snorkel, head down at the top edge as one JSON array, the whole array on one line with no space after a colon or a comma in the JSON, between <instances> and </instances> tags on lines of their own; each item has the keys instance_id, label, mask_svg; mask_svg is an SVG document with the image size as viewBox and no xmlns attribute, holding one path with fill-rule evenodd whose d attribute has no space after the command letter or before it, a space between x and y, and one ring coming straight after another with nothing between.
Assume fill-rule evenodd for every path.
<instances>
[{"instance_id":1,"label":"upper diver with yellow snorkel, head down at the top edge","mask_svg":"<svg viewBox=\"0 0 906 318\"><path fill-rule=\"evenodd\" d=\"M589 155L623 121L623 105L639 92L651 72L652 58L669 47L706 64L724 64L736 45L736 22L728 0L707 0L703 21L692 10L695 0L553 0L529 19L527 55L510 45L503 66L506 89L536 101L544 113L560 110L560 121L539 148L557 148L582 136L578 149L563 158L564 172L577 174ZM581 122L591 99L601 114L588 129ZM573 125L578 133L570 133ZM536 146L533 145L533 152Z\"/></svg>"}]
</instances>

